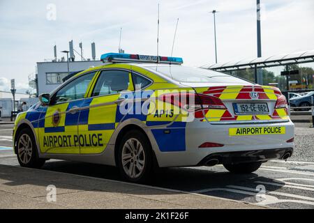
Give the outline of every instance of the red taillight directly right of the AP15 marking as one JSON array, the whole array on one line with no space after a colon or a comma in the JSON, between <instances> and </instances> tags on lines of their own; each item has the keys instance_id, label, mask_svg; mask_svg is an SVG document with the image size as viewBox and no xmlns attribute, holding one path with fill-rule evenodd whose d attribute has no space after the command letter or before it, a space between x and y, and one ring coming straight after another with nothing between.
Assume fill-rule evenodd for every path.
<instances>
[{"instance_id":1,"label":"red taillight directly right of the AP15 marking","mask_svg":"<svg viewBox=\"0 0 314 223\"><path fill-rule=\"evenodd\" d=\"M160 95L159 100L189 111L197 111L200 109L227 109L219 98L195 93L167 93Z\"/></svg>"}]
</instances>

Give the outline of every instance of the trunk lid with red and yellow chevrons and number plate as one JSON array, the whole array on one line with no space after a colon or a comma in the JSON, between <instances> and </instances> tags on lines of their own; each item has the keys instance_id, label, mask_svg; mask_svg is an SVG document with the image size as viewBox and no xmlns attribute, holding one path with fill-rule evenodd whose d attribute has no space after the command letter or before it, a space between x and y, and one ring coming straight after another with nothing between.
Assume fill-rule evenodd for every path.
<instances>
[{"instance_id":1,"label":"trunk lid with red and yellow chevrons and number plate","mask_svg":"<svg viewBox=\"0 0 314 223\"><path fill-rule=\"evenodd\" d=\"M252 84L192 87L197 94L219 98L225 105L225 108L219 109L204 107L202 115L197 115L201 121L223 124L281 122L289 119L284 96L272 86Z\"/></svg>"}]
</instances>

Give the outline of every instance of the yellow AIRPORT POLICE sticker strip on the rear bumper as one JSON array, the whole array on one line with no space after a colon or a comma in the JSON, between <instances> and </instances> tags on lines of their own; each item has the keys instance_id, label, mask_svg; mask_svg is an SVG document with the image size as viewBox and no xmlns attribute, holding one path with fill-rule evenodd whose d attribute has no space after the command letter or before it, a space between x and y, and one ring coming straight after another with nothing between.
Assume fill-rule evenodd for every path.
<instances>
[{"instance_id":1,"label":"yellow AIRPORT POLICE sticker strip on the rear bumper","mask_svg":"<svg viewBox=\"0 0 314 223\"><path fill-rule=\"evenodd\" d=\"M249 128L230 128L230 136L258 135L258 134L285 134L285 127L249 127Z\"/></svg>"}]
</instances>

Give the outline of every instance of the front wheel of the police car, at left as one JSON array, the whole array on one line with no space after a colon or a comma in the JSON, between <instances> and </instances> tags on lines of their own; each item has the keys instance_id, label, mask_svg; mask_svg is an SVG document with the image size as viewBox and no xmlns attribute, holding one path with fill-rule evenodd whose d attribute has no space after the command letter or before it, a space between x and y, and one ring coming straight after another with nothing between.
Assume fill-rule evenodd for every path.
<instances>
[{"instance_id":1,"label":"front wheel of the police car, at left","mask_svg":"<svg viewBox=\"0 0 314 223\"><path fill-rule=\"evenodd\" d=\"M40 168L46 161L39 158L35 137L29 128L24 128L18 134L16 154L21 167Z\"/></svg>"}]
</instances>

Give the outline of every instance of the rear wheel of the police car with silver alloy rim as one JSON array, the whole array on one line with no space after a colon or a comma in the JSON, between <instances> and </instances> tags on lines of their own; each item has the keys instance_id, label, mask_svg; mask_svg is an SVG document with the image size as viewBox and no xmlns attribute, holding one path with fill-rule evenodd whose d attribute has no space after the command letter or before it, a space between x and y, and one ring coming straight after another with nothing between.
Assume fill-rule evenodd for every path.
<instances>
[{"instance_id":1,"label":"rear wheel of the police car with silver alloy rim","mask_svg":"<svg viewBox=\"0 0 314 223\"><path fill-rule=\"evenodd\" d=\"M124 179L133 183L150 179L153 166L152 149L149 139L142 132L126 132L119 144L117 155L117 166Z\"/></svg>"}]
</instances>

